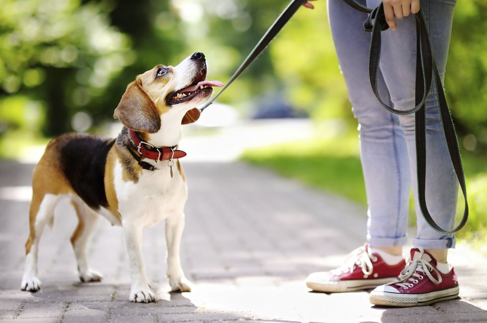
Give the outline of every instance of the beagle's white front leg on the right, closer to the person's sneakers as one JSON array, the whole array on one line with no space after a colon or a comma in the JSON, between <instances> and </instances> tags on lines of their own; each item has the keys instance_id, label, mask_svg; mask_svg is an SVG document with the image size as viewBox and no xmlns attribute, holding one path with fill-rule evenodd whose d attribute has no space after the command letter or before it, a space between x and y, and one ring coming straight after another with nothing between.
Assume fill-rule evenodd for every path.
<instances>
[{"instance_id":1,"label":"beagle's white front leg on the right, closer to the person's sneakers","mask_svg":"<svg viewBox=\"0 0 487 323\"><path fill-rule=\"evenodd\" d=\"M184 276L179 255L181 236L184 229L184 214L166 219L167 278L171 290L191 292L191 283Z\"/></svg>"}]
</instances>

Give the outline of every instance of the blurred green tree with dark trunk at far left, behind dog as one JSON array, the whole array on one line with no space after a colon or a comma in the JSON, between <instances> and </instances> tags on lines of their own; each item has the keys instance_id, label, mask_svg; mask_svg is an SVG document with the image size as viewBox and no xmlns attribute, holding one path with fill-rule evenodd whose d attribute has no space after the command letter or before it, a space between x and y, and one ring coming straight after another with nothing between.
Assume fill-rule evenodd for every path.
<instances>
[{"instance_id":1,"label":"blurred green tree with dark trunk at far left, behind dog","mask_svg":"<svg viewBox=\"0 0 487 323\"><path fill-rule=\"evenodd\" d=\"M110 24L108 1L1 2L0 99L37 102L45 110L45 135L69 130L76 111L96 111L96 97L133 62L130 38ZM22 105L7 108L25 113ZM16 125L11 119L3 123Z\"/></svg>"}]
</instances>

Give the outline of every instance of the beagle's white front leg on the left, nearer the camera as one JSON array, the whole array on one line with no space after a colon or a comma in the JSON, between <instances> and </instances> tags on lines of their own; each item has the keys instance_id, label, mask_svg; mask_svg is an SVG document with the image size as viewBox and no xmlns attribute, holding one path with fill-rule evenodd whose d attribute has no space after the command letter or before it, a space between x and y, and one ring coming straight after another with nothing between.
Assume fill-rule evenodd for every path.
<instances>
[{"instance_id":1,"label":"beagle's white front leg on the left, nearer the camera","mask_svg":"<svg viewBox=\"0 0 487 323\"><path fill-rule=\"evenodd\" d=\"M132 222L122 223L125 233L125 245L130 263L130 287L131 302L149 303L155 300L150 290L149 281L145 274L145 264L142 257L142 227Z\"/></svg>"}]
</instances>

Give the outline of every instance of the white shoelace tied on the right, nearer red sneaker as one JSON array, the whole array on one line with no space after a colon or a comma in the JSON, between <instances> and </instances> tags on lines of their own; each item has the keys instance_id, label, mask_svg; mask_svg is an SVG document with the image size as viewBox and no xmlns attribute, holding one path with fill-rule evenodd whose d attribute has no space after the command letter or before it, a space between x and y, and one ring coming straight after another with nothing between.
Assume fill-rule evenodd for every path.
<instances>
[{"instance_id":1,"label":"white shoelace tied on the right, nearer red sneaker","mask_svg":"<svg viewBox=\"0 0 487 323\"><path fill-rule=\"evenodd\" d=\"M431 265L427 259L423 259L424 250L418 248L420 253L414 254L414 258L409 258L406 268L404 268L399 274L398 280L388 285L398 285L409 289L417 284L419 280L424 279L426 275L433 283L440 284L442 282L441 274L438 270ZM436 279L431 273L434 272L438 279ZM418 280L419 279L419 280Z\"/></svg>"}]
</instances>

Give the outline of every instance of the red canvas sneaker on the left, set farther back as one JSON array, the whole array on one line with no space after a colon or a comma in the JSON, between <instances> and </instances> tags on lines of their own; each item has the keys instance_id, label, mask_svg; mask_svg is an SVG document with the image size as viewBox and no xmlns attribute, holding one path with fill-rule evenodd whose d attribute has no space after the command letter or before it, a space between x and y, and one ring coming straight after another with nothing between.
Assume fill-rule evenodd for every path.
<instances>
[{"instance_id":1,"label":"red canvas sneaker on the left, set farther back","mask_svg":"<svg viewBox=\"0 0 487 323\"><path fill-rule=\"evenodd\" d=\"M315 272L306 278L306 286L316 292L353 292L390 283L406 265L387 264L380 255L371 253L367 243L352 251L345 265L326 272Z\"/></svg>"}]
</instances>

